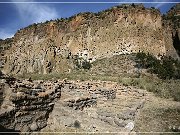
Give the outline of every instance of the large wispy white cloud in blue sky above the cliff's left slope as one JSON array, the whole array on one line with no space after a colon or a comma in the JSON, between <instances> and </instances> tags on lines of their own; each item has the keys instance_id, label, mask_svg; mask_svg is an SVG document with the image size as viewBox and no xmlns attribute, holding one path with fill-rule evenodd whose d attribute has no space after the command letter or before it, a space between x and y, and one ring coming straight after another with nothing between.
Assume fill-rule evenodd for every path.
<instances>
[{"instance_id":1,"label":"large wispy white cloud in blue sky above the cliff's left slope","mask_svg":"<svg viewBox=\"0 0 180 135\"><path fill-rule=\"evenodd\" d=\"M17 0L11 0L17 2ZM21 2L27 2L27 0L21 0ZM35 2L34 0L28 0L28 2ZM15 8L21 17L21 21L24 24L43 22L50 19L58 18L57 11L49 7L48 4L40 3L14 3Z\"/></svg>"}]
</instances>

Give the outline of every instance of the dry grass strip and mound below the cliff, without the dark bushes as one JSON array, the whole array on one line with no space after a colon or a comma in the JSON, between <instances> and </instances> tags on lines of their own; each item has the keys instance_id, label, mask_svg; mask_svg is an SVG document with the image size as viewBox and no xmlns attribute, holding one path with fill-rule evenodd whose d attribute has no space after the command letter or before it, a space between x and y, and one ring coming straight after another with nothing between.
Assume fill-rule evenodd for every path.
<instances>
[{"instance_id":1,"label":"dry grass strip and mound below the cliff, without the dark bushes","mask_svg":"<svg viewBox=\"0 0 180 135\"><path fill-rule=\"evenodd\" d=\"M164 98L173 98L180 101L180 80L162 80L152 74L137 74L133 61L135 55L119 55L111 58L104 58L92 63L91 70L73 70L71 73L51 74L25 74L18 75L18 78L32 78L33 80L101 80L119 82L126 86L135 86L155 93ZM131 70L131 72L129 72Z\"/></svg>"}]
</instances>

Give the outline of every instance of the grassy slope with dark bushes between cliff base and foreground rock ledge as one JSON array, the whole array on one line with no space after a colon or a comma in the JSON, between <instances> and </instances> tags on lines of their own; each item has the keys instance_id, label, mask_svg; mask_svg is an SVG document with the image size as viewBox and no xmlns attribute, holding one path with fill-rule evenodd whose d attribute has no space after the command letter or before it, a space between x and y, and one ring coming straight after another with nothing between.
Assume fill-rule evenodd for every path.
<instances>
[{"instance_id":1,"label":"grassy slope with dark bushes between cliff base and foreground rock ledge","mask_svg":"<svg viewBox=\"0 0 180 135\"><path fill-rule=\"evenodd\" d=\"M125 63L126 61L125 59L127 59L127 57L129 59L130 58L135 59L136 62L138 62L137 64L140 65L140 68L147 68L147 70L150 73L141 72L140 76L137 76L137 74L135 73L124 73L124 72L121 73L121 71L123 69L126 69L126 67L121 67L120 66L121 63L119 62L122 62L123 63L122 65L128 64ZM159 97L172 98L175 101L180 101L180 80L172 78L179 75L177 74L178 71L177 68L179 67L177 67L178 62L176 60L173 60L173 62L177 62L177 63L173 64L173 62L170 61L169 58L167 58L167 60L165 58L163 58L163 60L162 59L160 60L155 58L154 56L151 56L150 54L138 53L138 54L130 54L126 56L125 55L113 56L112 58L104 58L101 60L97 60L93 63L89 63L89 62L86 63L83 61L84 59L77 58L74 61L76 68L71 72L66 72L66 73L52 72L50 74L27 73L24 76L19 75L18 78L31 77L32 80L68 79L68 80L80 80L80 81L86 81L86 80L113 81L113 82L118 82L124 86L133 86L140 89L145 89L149 92L153 92L155 95ZM175 66L171 67L171 65L173 66L175 65ZM101 69L103 69L103 71L101 71ZM151 72L153 72L153 74ZM166 79L161 79L157 77L156 75L154 75L155 73L158 73L157 76L161 76ZM173 73L173 75L171 75L171 73Z\"/></svg>"}]
</instances>

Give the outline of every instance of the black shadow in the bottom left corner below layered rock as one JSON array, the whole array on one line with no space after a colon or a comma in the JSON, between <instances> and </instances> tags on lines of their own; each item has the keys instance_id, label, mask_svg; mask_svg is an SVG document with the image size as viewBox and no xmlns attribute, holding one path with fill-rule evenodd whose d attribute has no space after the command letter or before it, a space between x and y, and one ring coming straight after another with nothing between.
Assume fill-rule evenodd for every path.
<instances>
[{"instance_id":1,"label":"black shadow in the bottom left corner below layered rock","mask_svg":"<svg viewBox=\"0 0 180 135\"><path fill-rule=\"evenodd\" d=\"M12 135L20 135L20 131L14 130L14 129L7 129L0 125L0 135L7 135L7 134L12 134Z\"/></svg>"}]
</instances>

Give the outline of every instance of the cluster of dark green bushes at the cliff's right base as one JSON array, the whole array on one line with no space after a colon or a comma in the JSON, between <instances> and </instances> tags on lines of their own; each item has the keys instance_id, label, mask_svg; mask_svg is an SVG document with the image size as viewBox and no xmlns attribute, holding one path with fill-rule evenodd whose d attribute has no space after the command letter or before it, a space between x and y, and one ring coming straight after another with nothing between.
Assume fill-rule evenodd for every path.
<instances>
[{"instance_id":1,"label":"cluster of dark green bushes at the cliff's right base","mask_svg":"<svg viewBox=\"0 0 180 135\"><path fill-rule=\"evenodd\" d=\"M162 56L157 59L151 54L139 52L136 54L136 60L140 68L148 69L161 79L180 79L180 62L172 57Z\"/></svg>"}]
</instances>

